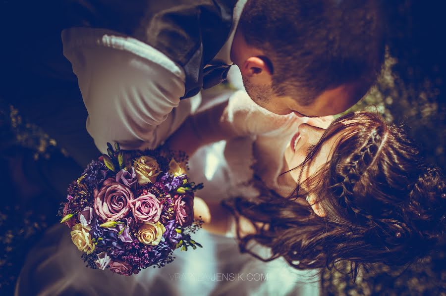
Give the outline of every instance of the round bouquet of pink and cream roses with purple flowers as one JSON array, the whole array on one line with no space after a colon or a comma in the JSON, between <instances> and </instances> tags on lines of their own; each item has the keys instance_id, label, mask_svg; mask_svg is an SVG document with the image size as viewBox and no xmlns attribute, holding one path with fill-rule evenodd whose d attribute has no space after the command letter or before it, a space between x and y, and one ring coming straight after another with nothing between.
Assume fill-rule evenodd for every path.
<instances>
[{"instance_id":1,"label":"round bouquet of pink and cream roses with purple flowers","mask_svg":"<svg viewBox=\"0 0 446 296\"><path fill-rule=\"evenodd\" d=\"M193 198L203 185L188 180L186 165L181 152L108 144L108 155L70 184L59 210L87 267L129 276L166 265L176 248L201 247L190 235L202 224Z\"/></svg>"}]
</instances>

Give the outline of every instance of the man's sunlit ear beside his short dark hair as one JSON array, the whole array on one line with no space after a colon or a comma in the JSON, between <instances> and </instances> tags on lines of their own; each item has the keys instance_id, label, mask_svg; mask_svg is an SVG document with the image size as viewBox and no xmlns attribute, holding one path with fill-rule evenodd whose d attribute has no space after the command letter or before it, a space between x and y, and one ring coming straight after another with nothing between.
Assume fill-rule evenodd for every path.
<instances>
[{"instance_id":1,"label":"man's sunlit ear beside his short dark hair","mask_svg":"<svg viewBox=\"0 0 446 296\"><path fill-rule=\"evenodd\" d=\"M267 57L248 57L240 68L240 72L254 84L271 84L273 81L273 67Z\"/></svg>"}]
</instances>

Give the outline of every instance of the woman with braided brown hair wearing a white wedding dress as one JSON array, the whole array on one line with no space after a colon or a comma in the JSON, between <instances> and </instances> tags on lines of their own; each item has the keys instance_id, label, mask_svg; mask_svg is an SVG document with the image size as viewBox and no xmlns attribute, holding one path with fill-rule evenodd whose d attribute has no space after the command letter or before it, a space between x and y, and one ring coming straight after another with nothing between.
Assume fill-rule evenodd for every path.
<instances>
[{"instance_id":1,"label":"woman with braided brown hair wearing a white wedding dress","mask_svg":"<svg viewBox=\"0 0 446 296\"><path fill-rule=\"evenodd\" d=\"M404 134L373 113L330 123L275 115L236 92L168 143L196 151L190 175L205 182L209 208L200 199L194 208L207 228L276 260L201 231L204 249L127 278L85 268L68 231L55 227L30 252L16 295L318 295L318 269L336 261L404 264L435 248L445 230L438 171L423 171ZM218 279L229 274L240 280Z\"/></svg>"}]
</instances>

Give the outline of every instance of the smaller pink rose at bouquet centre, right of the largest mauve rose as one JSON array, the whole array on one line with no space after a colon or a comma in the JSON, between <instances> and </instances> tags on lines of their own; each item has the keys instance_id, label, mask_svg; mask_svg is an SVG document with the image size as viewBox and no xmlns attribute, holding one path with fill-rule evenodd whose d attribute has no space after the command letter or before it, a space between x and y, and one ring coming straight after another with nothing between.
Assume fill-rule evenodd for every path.
<instances>
[{"instance_id":1,"label":"smaller pink rose at bouquet centre, right of the largest mauve rose","mask_svg":"<svg viewBox=\"0 0 446 296\"><path fill-rule=\"evenodd\" d=\"M133 216L137 222L156 223L160 220L163 205L153 194L145 194L131 203Z\"/></svg>"}]
</instances>

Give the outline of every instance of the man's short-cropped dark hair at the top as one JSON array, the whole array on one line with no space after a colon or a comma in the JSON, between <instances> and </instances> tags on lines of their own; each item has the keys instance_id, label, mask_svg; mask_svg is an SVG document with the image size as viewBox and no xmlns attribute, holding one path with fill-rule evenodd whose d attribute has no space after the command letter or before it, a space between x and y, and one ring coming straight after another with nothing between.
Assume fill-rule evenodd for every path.
<instances>
[{"instance_id":1,"label":"man's short-cropped dark hair at the top","mask_svg":"<svg viewBox=\"0 0 446 296\"><path fill-rule=\"evenodd\" d=\"M325 90L353 84L362 97L384 59L379 2L248 0L239 28L247 44L271 60L279 96L305 105Z\"/></svg>"}]
</instances>

